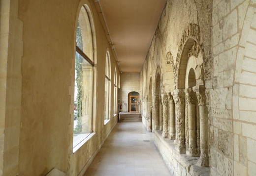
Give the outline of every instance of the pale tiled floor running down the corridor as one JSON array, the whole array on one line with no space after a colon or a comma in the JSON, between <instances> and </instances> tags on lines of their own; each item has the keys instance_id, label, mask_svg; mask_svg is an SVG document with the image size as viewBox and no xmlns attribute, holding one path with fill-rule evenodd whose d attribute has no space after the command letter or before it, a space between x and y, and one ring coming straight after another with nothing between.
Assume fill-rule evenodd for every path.
<instances>
[{"instance_id":1,"label":"pale tiled floor running down the corridor","mask_svg":"<svg viewBox=\"0 0 256 176\"><path fill-rule=\"evenodd\" d=\"M117 123L84 176L171 176L142 122Z\"/></svg>"}]
</instances>

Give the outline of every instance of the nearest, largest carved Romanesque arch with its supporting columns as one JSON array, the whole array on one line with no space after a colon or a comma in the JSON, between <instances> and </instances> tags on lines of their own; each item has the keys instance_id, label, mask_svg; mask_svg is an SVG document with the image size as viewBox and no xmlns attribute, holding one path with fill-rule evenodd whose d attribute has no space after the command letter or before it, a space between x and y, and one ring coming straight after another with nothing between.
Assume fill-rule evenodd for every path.
<instances>
[{"instance_id":1,"label":"nearest, largest carved Romanesque arch with its supporting columns","mask_svg":"<svg viewBox=\"0 0 256 176\"><path fill-rule=\"evenodd\" d=\"M198 164L209 166L208 109L205 101L203 52L199 40L199 26L190 24L183 33L176 59L175 143L178 152L200 156Z\"/></svg>"}]
</instances>

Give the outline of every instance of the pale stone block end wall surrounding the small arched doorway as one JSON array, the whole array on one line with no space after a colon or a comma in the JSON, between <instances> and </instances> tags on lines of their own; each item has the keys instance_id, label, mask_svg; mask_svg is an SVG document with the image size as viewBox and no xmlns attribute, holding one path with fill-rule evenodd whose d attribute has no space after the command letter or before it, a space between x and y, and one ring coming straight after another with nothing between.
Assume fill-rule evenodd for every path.
<instances>
[{"instance_id":1,"label":"pale stone block end wall surrounding the small arched doorway","mask_svg":"<svg viewBox=\"0 0 256 176\"><path fill-rule=\"evenodd\" d=\"M130 92L138 92L140 94L140 73L122 73L120 83L120 103L123 105L123 109L120 109L120 112L128 112L128 94ZM126 110L123 101L127 103Z\"/></svg>"}]
</instances>

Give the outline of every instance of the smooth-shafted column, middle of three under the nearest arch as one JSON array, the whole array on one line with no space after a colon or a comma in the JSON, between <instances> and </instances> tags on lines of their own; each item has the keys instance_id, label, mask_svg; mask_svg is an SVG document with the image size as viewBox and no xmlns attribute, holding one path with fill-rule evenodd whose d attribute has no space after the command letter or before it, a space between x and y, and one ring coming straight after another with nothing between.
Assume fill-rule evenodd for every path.
<instances>
[{"instance_id":1,"label":"smooth-shafted column, middle of three under the nearest arch","mask_svg":"<svg viewBox=\"0 0 256 176\"><path fill-rule=\"evenodd\" d=\"M196 94L191 88L186 89L186 104L188 105L189 144L187 154L197 156L196 148Z\"/></svg>"}]
</instances>

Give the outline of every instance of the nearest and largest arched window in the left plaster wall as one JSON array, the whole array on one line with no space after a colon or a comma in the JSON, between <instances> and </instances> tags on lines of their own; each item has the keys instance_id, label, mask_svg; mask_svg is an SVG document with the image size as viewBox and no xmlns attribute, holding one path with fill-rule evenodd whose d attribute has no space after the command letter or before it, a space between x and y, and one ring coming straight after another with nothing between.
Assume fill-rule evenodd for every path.
<instances>
[{"instance_id":1,"label":"nearest and largest arched window in the left plaster wall","mask_svg":"<svg viewBox=\"0 0 256 176\"><path fill-rule=\"evenodd\" d=\"M76 31L73 148L93 132L94 43L93 19L82 6Z\"/></svg>"}]
</instances>

